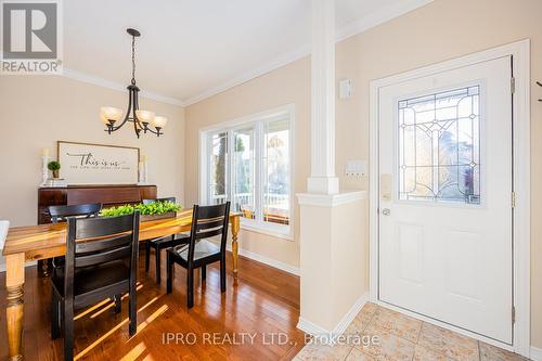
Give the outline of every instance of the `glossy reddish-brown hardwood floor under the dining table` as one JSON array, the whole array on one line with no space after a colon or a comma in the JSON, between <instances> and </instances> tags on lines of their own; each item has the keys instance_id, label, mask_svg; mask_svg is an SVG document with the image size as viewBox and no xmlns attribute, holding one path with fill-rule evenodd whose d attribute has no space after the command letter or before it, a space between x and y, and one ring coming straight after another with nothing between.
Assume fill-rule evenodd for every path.
<instances>
[{"instance_id":1,"label":"glossy reddish-brown hardwood floor under the dining table","mask_svg":"<svg viewBox=\"0 0 542 361\"><path fill-rule=\"evenodd\" d=\"M241 257L238 285L233 285L229 269L228 291L221 295L219 269L212 266L207 270L206 282L195 288L194 308L189 311L185 271L176 268L173 293L166 295L165 268L162 285L157 285L153 265L145 275L143 256L142 252L137 335L132 338L128 335L127 299L120 314L113 312L111 301L78 311L76 360L289 360L302 348L305 335L296 328L297 276ZM8 358L4 284L3 272L0 273L1 360ZM62 338L53 341L50 336L50 280L37 278L36 267L27 268L26 360L63 359Z\"/></svg>"}]
</instances>

